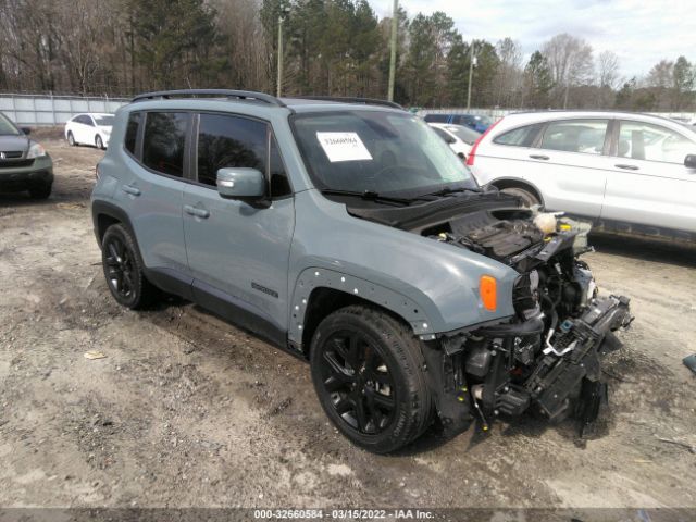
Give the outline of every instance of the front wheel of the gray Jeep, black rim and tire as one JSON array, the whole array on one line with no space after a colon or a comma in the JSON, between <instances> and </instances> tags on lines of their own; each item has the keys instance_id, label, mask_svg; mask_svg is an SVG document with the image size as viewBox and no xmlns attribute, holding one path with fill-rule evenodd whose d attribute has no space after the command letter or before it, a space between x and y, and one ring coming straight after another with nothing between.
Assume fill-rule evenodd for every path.
<instances>
[{"instance_id":1,"label":"front wheel of the gray Jeep, black rim and tire","mask_svg":"<svg viewBox=\"0 0 696 522\"><path fill-rule=\"evenodd\" d=\"M432 422L420 341L381 310L350 306L324 319L312 337L310 363L322 408L357 446L387 453Z\"/></svg>"}]
</instances>

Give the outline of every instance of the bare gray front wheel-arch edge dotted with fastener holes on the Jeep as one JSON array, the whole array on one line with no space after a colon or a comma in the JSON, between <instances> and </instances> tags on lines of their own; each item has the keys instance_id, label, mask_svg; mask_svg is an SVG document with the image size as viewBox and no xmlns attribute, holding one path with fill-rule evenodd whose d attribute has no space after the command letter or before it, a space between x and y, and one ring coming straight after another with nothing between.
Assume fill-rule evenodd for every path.
<instances>
[{"instance_id":1,"label":"bare gray front wheel-arch edge dotted with fastener holes on the Jeep","mask_svg":"<svg viewBox=\"0 0 696 522\"><path fill-rule=\"evenodd\" d=\"M402 318L411 326L413 334L420 336L421 339L432 340L435 338L432 322L424 313L423 307L413 299L350 274L314 266L300 272L295 283L288 328L290 341L299 344L302 341L307 304L312 291L316 288L331 288L373 302Z\"/></svg>"}]
</instances>

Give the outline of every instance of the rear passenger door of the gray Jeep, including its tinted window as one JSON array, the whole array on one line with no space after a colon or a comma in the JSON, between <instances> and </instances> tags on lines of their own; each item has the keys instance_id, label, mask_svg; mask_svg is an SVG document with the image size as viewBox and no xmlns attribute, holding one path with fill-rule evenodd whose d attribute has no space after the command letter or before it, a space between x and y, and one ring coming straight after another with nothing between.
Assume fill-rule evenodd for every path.
<instances>
[{"instance_id":1,"label":"rear passenger door of the gray Jeep, including its tinted window","mask_svg":"<svg viewBox=\"0 0 696 522\"><path fill-rule=\"evenodd\" d=\"M182 199L190 121L186 112L130 113L124 139L128 169L115 191L146 266L178 279L189 272Z\"/></svg>"}]
</instances>

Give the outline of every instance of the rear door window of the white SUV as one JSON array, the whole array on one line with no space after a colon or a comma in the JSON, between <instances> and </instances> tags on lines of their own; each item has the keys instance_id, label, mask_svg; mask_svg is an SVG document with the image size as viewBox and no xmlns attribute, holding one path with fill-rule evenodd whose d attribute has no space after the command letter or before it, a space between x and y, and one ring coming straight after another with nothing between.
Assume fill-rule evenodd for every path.
<instances>
[{"instance_id":1,"label":"rear door window of the white SUV","mask_svg":"<svg viewBox=\"0 0 696 522\"><path fill-rule=\"evenodd\" d=\"M542 149L601 154L608 120L566 120L546 127Z\"/></svg>"}]
</instances>

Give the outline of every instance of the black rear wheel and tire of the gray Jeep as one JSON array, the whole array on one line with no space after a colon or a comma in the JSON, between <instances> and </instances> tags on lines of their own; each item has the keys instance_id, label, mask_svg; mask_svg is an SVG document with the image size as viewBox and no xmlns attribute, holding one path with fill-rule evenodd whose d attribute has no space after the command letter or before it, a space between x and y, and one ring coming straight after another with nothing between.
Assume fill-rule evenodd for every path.
<instances>
[{"instance_id":1,"label":"black rear wheel and tire of the gray Jeep","mask_svg":"<svg viewBox=\"0 0 696 522\"><path fill-rule=\"evenodd\" d=\"M104 233L101 263L107 286L119 304L138 310L157 300L158 290L145 276L135 239L120 223L111 225Z\"/></svg>"}]
</instances>

